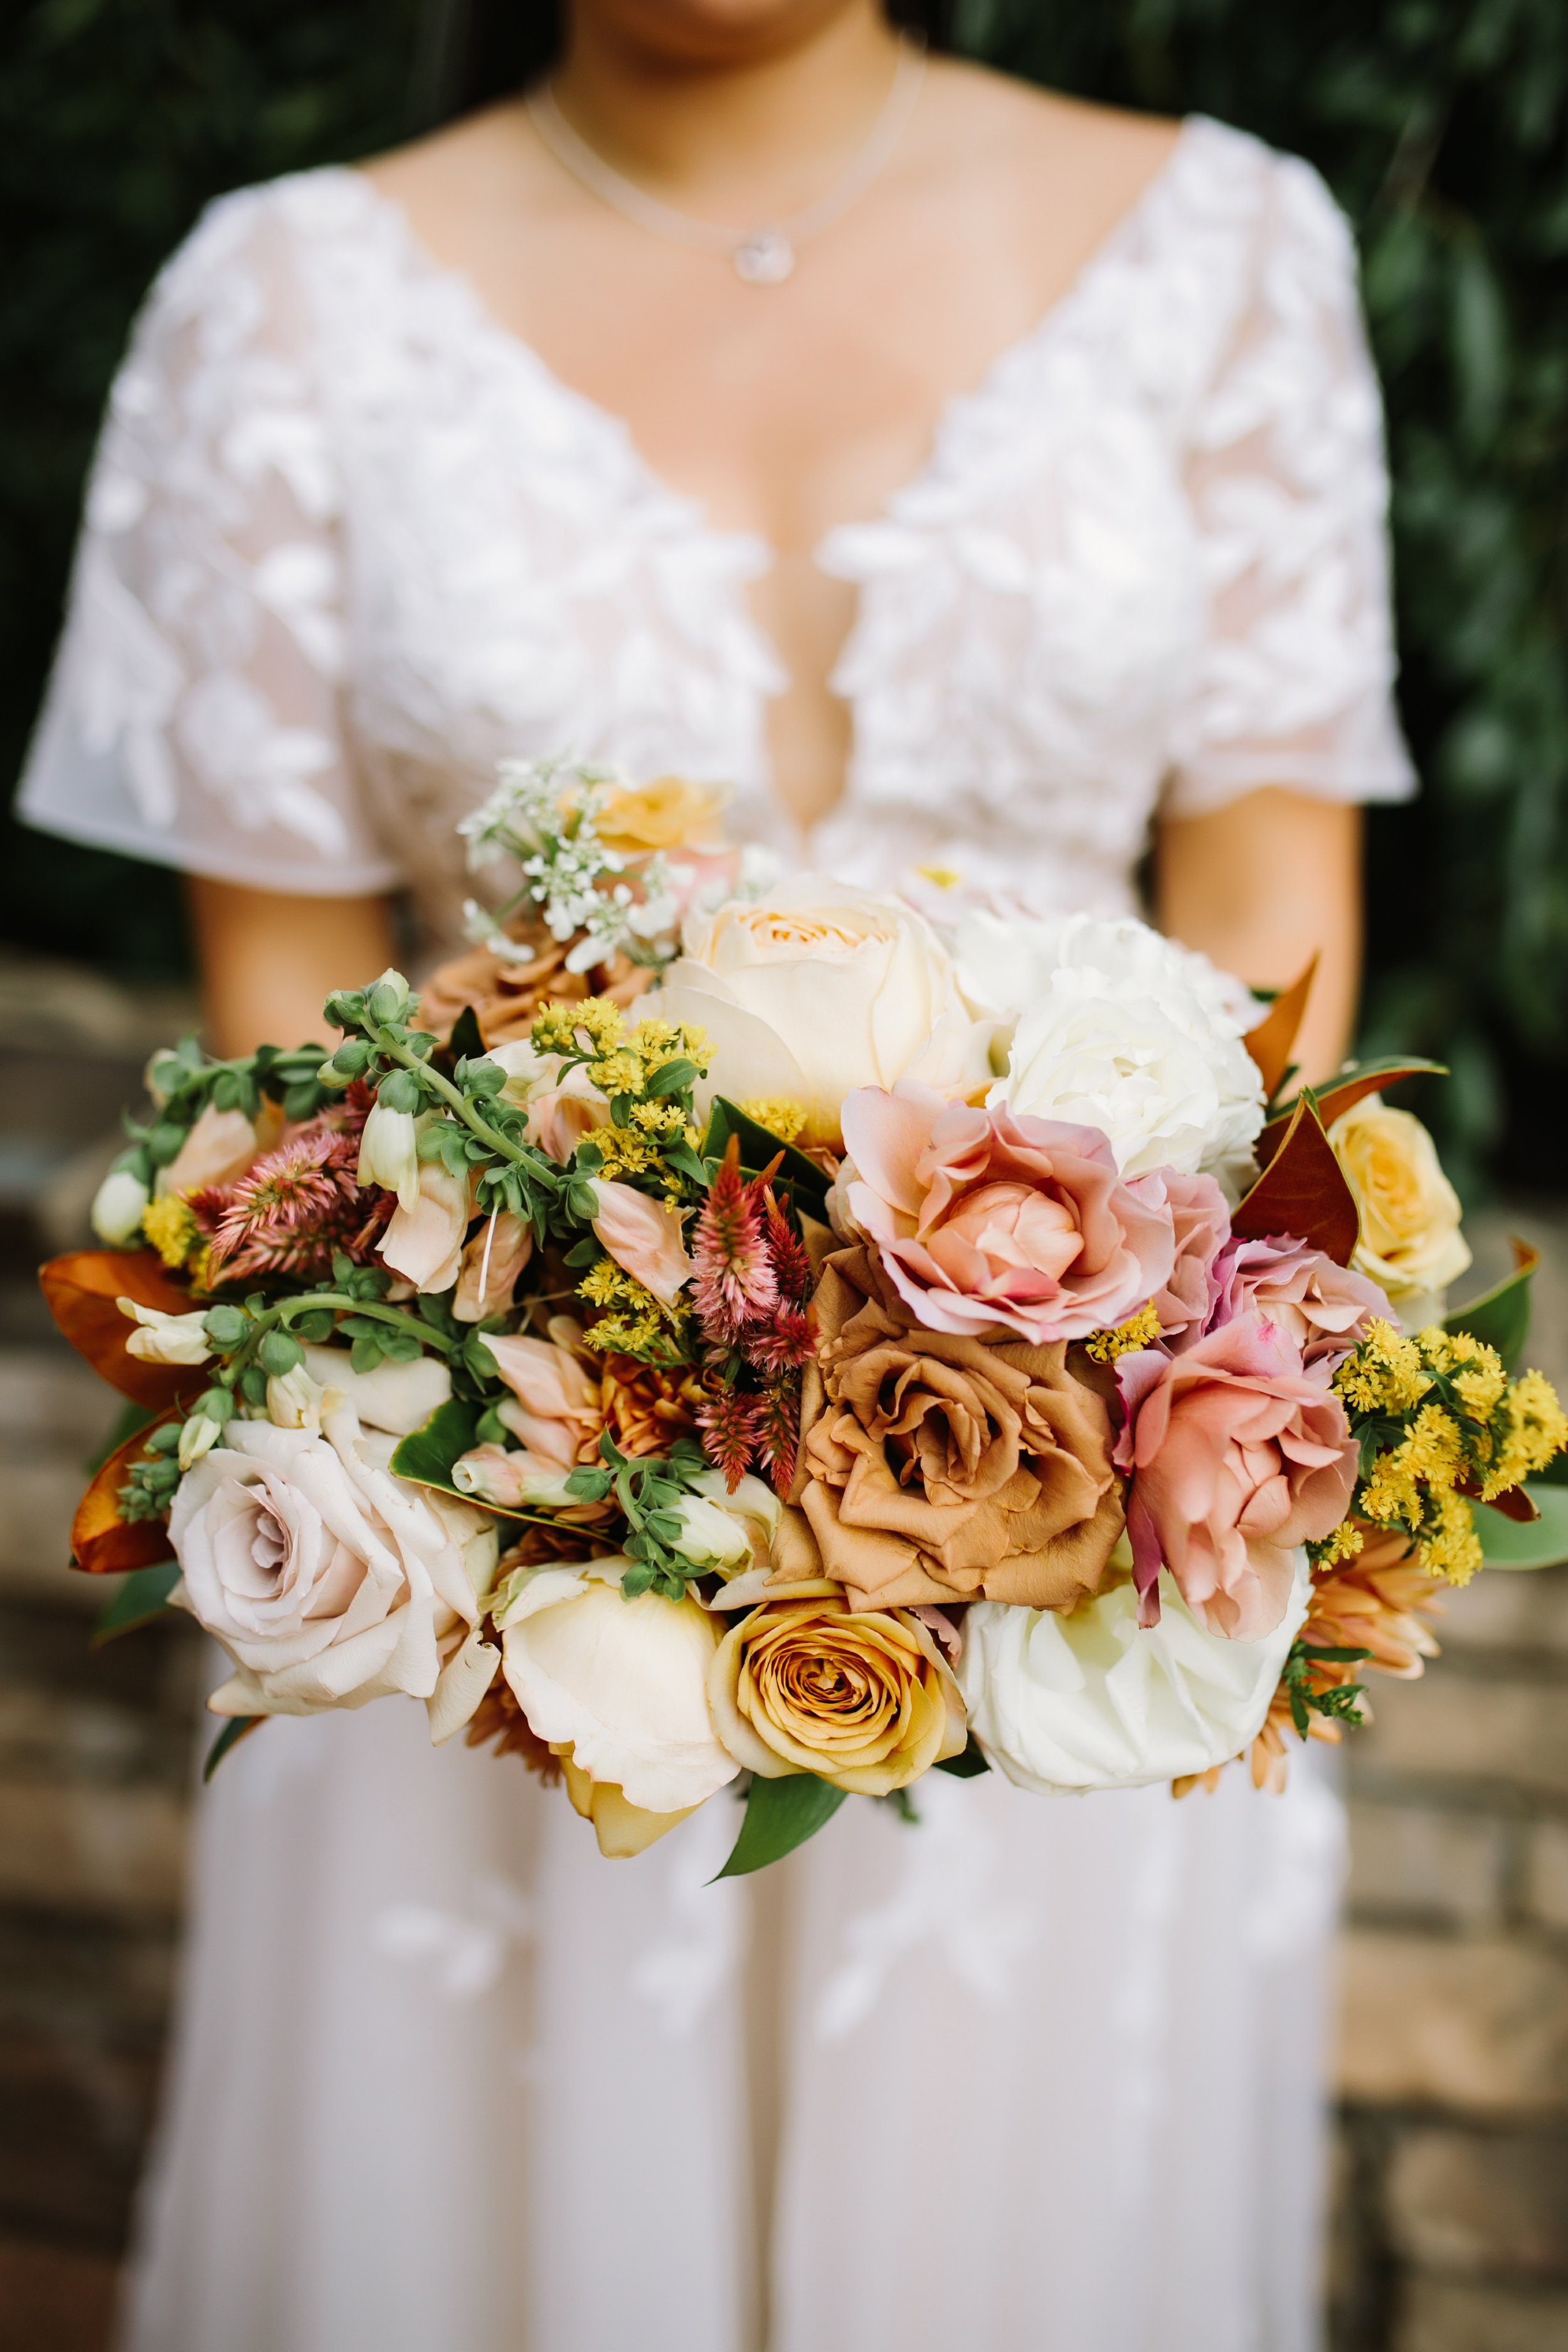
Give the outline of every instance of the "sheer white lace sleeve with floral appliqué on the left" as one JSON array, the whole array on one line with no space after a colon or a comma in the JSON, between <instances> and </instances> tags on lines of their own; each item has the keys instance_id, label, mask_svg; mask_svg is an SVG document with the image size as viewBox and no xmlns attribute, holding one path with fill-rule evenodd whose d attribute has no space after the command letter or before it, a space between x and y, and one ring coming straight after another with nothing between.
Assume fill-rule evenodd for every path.
<instances>
[{"instance_id":1,"label":"sheer white lace sleeve with floral appliqu\u00e9 on the left","mask_svg":"<svg viewBox=\"0 0 1568 2352\"><path fill-rule=\"evenodd\" d=\"M259 889L400 880L343 729L343 567L299 247L216 202L115 379L19 814Z\"/></svg>"}]
</instances>

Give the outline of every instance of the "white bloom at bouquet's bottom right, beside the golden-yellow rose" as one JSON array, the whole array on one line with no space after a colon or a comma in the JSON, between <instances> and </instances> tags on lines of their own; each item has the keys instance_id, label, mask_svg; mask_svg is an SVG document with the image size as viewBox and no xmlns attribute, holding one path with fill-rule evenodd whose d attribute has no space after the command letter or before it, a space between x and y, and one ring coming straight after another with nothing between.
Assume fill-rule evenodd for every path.
<instances>
[{"instance_id":1,"label":"white bloom at bouquet's bottom right, beside the golden-yellow rose","mask_svg":"<svg viewBox=\"0 0 1568 2352\"><path fill-rule=\"evenodd\" d=\"M1227 1764L1262 1731L1309 1590L1298 1552L1291 1606L1262 1642L1204 1632L1164 1569L1150 1628L1131 1581L1065 1616L978 1602L957 1665L969 1726L1009 1780L1041 1795Z\"/></svg>"}]
</instances>

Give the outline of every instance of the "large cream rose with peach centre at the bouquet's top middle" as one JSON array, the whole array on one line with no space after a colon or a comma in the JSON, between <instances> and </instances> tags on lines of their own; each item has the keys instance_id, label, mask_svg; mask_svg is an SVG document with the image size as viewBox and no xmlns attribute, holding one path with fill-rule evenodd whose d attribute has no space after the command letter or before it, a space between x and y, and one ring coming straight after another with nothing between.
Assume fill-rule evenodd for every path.
<instances>
[{"instance_id":1,"label":"large cream rose with peach centre at the bouquet's top middle","mask_svg":"<svg viewBox=\"0 0 1568 2352\"><path fill-rule=\"evenodd\" d=\"M658 1011L712 1040L705 1096L795 1101L832 1143L856 1087L905 1075L985 1084L990 1023L959 995L952 957L896 898L792 875L759 901L686 920Z\"/></svg>"}]
</instances>

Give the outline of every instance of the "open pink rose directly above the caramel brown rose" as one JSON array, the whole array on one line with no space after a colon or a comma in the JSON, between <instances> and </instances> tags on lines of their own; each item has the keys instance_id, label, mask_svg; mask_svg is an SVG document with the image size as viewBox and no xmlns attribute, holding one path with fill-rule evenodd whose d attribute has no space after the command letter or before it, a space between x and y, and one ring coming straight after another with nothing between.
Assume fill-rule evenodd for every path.
<instances>
[{"instance_id":1,"label":"open pink rose directly above the caramel brown rose","mask_svg":"<svg viewBox=\"0 0 1568 2352\"><path fill-rule=\"evenodd\" d=\"M1098 1127L900 1080L846 1098L844 1148L842 1211L926 1331L1086 1338L1171 1279L1171 1214L1121 1183Z\"/></svg>"}]
</instances>

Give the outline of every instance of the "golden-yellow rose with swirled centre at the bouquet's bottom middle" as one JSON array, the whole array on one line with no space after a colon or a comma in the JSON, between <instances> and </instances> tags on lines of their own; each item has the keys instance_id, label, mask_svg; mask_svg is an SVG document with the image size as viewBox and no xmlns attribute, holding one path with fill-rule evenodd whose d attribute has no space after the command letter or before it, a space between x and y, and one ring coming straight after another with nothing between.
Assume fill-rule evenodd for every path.
<instances>
[{"instance_id":1,"label":"golden-yellow rose with swirled centre at the bouquet's bottom middle","mask_svg":"<svg viewBox=\"0 0 1568 2352\"><path fill-rule=\"evenodd\" d=\"M827 1578L780 1585L719 1642L708 1705L736 1764L813 1771L858 1797L907 1788L969 1738L957 1682L907 1609L856 1609Z\"/></svg>"}]
</instances>

